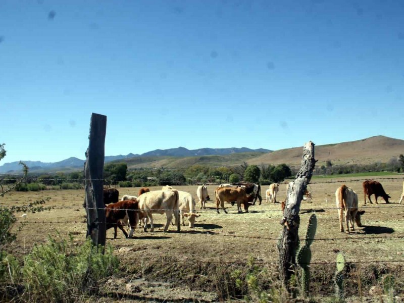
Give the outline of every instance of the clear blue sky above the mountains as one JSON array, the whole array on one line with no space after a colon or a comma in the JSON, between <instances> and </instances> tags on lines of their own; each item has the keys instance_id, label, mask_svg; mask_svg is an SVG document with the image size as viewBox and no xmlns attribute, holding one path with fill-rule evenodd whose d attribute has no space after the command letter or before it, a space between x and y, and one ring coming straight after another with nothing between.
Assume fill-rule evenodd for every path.
<instances>
[{"instance_id":1,"label":"clear blue sky above the mountains","mask_svg":"<svg viewBox=\"0 0 404 303\"><path fill-rule=\"evenodd\" d=\"M0 165L404 139L404 1L0 1Z\"/></svg>"}]
</instances>

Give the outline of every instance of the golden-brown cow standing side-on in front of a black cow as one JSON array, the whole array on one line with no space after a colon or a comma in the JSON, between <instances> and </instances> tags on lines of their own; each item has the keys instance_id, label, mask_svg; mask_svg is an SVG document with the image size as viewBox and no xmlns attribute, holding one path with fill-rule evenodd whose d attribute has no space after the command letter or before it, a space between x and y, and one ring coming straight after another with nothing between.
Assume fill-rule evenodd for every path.
<instances>
[{"instance_id":1,"label":"golden-brown cow standing side-on in front of a black cow","mask_svg":"<svg viewBox=\"0 0 404 303\"><path fill-rule=\"evenodd\" d=\"M218 187L215 190L216 197L216 211L219 214L219 204L222 207L223 211L227 214L226 209L224 208L225 201L237 202L237 211L241 213L241 203L244 205L245 212L248 213L248 202L254 200L254 194L249 194L245 192L244 188L241 187Z\"/></svg>"}]
</instances>

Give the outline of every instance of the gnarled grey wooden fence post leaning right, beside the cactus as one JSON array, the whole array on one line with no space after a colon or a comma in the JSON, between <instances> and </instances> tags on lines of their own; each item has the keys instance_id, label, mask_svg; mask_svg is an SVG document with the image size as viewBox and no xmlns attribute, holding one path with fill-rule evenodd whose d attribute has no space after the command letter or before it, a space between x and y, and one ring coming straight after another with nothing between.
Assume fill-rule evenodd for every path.
<instances>
[{"instance_id":1,"label":"gnarled grey wooden fence post leaning right, beside the cactus","mask_svg":"<svg viewBox=\"0 0 404 303\"><path fill-rule=\"evenodd\" d=\"M299 240L300 202L312 178L316 162L314 159L314 143L309 141L304 146L301 167L296 179L289 182L287 189L285 210L281 221L283 229L278 243L278 250L280 278L289 292L291 292L289 280L296 269L295 255Z\"/></svg>"}]
</instances>

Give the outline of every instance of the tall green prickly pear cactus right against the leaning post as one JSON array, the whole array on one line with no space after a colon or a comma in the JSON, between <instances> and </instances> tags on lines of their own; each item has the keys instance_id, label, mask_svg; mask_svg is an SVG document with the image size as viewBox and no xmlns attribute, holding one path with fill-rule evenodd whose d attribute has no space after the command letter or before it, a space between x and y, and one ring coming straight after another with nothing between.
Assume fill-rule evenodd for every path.
<instances>
[{"instance_id":1,"label":"tall green prickly pear cactus right against the leaning post","mask_svg":"<svg viewBox=\"0 0 404 303\"><path fill-rule=\"evenodd\" d=\"M305 295L309 294L310 287L310 261L312 260L312 251L310 245L313 243L317 229L317 217L315 214L310 216L309 226L306 232L306 242L297 251L297 263L301 267L300 285Z\"/></svg>"}]
</instances>

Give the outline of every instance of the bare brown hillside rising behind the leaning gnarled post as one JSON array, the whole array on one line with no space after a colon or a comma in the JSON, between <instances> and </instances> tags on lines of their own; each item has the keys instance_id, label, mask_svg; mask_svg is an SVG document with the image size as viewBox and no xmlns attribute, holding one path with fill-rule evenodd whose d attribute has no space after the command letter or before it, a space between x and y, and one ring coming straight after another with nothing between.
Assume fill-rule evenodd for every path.
<instances>
[{"instance_id":1,"label":"bare brown hillside rising behind the leaning gnarled post","mask_svg":"<svg viewBox=\"0 0 404 303\"><path fill-rule=\"evenodd\" d=\"M247 163L300 165L302 149L301 146L276 150L250 159ZM385 136L315 147L315 157L319 160L317 165L323 165L327 160L331 160L333 164L369 164L379 161L385 163L400 154L404 154L404 140Z\"/></svg>"}]
</instances>

